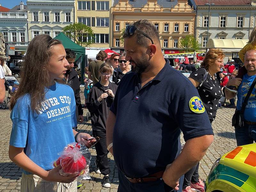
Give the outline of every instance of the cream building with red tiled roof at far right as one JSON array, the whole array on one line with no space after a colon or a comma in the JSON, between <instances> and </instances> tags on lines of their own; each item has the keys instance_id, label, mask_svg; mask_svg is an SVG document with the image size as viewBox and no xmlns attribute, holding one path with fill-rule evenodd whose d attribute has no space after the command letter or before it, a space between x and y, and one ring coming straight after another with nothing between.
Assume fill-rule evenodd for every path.
<instances>
[{"instance_id":1,"label":"cream building with red tiled roof at far right","mask_svg":"<svg viewBox=\"0 0 256 192\"><path fill-rule=\"evenodd\" d=\"M196 7L196 39L205 51L208 39L248 39L255 26L256 7L253 0L194 0ZM206 3L215 4L210 6ZM209 14L209 18L208 18ZM208 31L209 23L209 31ZM234 47L235 48L235 47ZM226 59L237 57L226 52Z\"/></svg>"}]
</instances>

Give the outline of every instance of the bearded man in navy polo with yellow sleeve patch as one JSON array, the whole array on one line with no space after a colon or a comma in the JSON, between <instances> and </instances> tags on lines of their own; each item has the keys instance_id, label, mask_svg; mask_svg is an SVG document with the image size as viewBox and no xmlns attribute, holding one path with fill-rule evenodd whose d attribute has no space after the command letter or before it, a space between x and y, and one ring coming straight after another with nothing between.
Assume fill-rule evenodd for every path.
<instances>
[{"instance_id":1,"label":"bearded man in navy polo with yellow sleeve patch","mask_svg":"<svg viewBox=\"0 0 256 192\"><path fill-rule=\"evenodd\" d=\"M209 118L196 88L164 59L152 23L127 26L124 50L134 72L120 81L107 121L118 192L178 190L180 176L213 141ZM181 153L180 130L186 141Z\"/></svg>"}]
</instances>

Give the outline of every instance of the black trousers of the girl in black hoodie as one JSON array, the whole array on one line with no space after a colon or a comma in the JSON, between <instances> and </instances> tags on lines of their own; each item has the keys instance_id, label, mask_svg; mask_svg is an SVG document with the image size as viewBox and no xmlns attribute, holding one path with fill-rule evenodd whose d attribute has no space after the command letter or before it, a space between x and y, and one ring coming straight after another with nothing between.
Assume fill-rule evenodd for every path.
<instances>
[{"instance_id":1,"label":"black trousers of the girl in black hoodie","mask_svg":"<svg viewBox=\"0 0 256 192\"><path fill-rule=\"evenodd\" d=\"M106 131L96 131L92 129L92 135L93 137L100 138L100 141L95 145L97 153L96 164L103 175L108 175L110 173L110 168L108 164Z\"/></svg>"}]
</instances>

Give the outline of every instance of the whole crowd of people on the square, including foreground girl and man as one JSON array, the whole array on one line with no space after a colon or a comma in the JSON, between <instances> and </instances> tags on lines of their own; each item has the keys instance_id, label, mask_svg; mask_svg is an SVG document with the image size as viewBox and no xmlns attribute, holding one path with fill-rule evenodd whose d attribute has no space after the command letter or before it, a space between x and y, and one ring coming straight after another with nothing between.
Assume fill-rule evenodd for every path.
<instances>
[{"instance_id":1,"label":"whole crowd of people on the square, including foreground girl and man","mask_svg":"<svg viewBox=\"0 0 256 192\"><path fill-rule=\"evenodd\" d=\"M163 57L158 31L148 20L125 28L123 54L108 59L100 51L85 68L84 107L91 113L92 136L100 138L95 172L104 176L103 187L111 186L110 152L118 168L118 192L204 192L199 161L212 144L212 122L224 94L232 108L237 95L232 122L237 145L256 141L255 36L254 29L250 46L239 53L244 62L239 70L233 60L224 65L221 49L210 49L200 64L185 57L175 70ZM22 168L21 191L73 192L81 186L77 175L62 176L60 166L52 167L68 143L90 148L96 141L76 131L84 117L75 58L48 35L34 37L28 46L10 106L9 157ZM191 74L187 78L178 69ZM2 86L1 67L0 78Z\"/></svg>"}]
</instances>

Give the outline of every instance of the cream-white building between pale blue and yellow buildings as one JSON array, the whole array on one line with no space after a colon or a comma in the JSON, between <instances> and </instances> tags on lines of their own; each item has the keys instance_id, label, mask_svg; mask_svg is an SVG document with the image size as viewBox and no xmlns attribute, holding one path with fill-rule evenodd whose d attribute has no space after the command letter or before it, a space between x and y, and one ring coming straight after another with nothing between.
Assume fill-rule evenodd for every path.
<instances>
[{"instance_id":1,"label":"cream-white building between pale blue and yellow buildings","mask_svg":"<svg viewBox=\"0 0 256 192\"><path fill-rule=\"evenodd\" d=\"M75 0L27 0L28 40L47 34L53 38L74 20Z\"/></svg>"}]
</instances>

